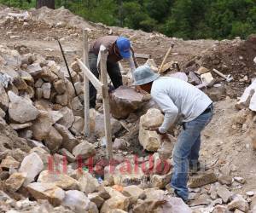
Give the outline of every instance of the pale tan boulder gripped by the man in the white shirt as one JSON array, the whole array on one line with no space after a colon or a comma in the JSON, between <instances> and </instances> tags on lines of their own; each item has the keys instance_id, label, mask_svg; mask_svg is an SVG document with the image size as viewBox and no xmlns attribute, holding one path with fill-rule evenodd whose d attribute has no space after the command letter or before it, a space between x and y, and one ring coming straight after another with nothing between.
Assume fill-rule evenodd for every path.
<instances>
[{"instance_id":1,"label":"pale tan boulder gripped by the man in the white shirt","mask_svg":"<svg viewBox=\"0 0 256 213\"><path fill-rule=\"evenodd\" d=\"M160 147L160 135L156 131L147 130L150 127L158 127L163 123L164 116L159 109L148 109L148 112L140 118L139 141L144 149L156 152Z\"/></svg>"}]
</instances>

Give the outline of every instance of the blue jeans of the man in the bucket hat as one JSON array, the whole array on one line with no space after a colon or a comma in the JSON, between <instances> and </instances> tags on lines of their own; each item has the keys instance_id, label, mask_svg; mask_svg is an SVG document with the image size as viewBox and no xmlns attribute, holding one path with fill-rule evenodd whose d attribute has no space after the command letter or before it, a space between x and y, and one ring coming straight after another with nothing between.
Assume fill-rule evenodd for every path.
<instances>
[{"instance_id":1,"label":"blue jeans of the man in the bucket hat","mask_svg":"<svg viewBox=\"0 0 256 213\"><path fill-rule=\"evenodd\" d=\"M183 130L178 135L173 149L171 185L177 196L184 201L188 200L189 197L189 189L187 187L189 163L196 164L198 162L201 146L201 131L212 119L212 104L207 109L208 112L203 112L194 120L183 124Z\"/></svg>"}]
</instances>

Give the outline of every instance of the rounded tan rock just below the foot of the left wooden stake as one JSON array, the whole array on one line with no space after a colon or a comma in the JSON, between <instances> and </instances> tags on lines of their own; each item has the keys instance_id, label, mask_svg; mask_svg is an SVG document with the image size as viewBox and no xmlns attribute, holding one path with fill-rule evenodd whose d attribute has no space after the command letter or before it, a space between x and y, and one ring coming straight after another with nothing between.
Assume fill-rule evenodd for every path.
<instances>
[{"instance_id":1,"label":"rounded tan rock just below the foot of the left wooden stake","mask_svg":"<svg viewBox=\"0 0 256 213\"><path fill-rule=\"evenodd\" d=\"M76 147L73 148L73 155L75 158L82 158L82 159L87 159L96 154L96 149L95 147L87 142L87 141L82 141L77 145Z\"/></svg>"}]
</instances>

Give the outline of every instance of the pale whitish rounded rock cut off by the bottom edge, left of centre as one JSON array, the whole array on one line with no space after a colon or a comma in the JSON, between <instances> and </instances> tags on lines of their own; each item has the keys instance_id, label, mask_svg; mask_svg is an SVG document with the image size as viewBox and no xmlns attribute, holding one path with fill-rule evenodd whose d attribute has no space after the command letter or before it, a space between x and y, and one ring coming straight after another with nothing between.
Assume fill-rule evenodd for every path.
<instances>
[{"instance_id":1,"label":"pale whitish rounded rock cut off by the bottom edge, left of centre","mask_svg":"<svg viewBox=\"0 0 256 213\"><path fill-rule=\"evenodd\" d=\"M61 205L69 207L74 212L83 213L88 212L90 200L82 192L69 190L65 193L65 199Z\"/></svg>"}]
</instances>

